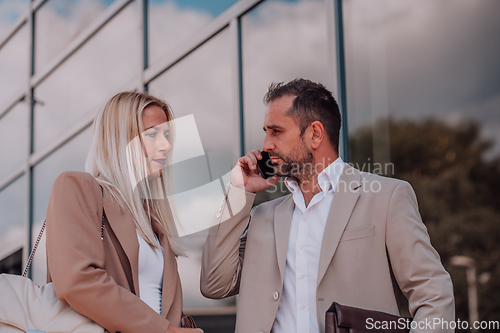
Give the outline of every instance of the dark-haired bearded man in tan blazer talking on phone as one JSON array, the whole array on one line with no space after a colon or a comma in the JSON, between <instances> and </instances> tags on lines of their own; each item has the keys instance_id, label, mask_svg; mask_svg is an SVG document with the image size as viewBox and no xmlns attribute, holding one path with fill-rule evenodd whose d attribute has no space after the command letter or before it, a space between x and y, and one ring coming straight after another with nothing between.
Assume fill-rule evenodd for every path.
<instances>
[{"instance_id":1,"label":"dark-haired bearded man in tan blazer talking on phone","mask_svg":"<svg viewBox=\"0 0 500 333\"><path fill-rule=\"evenodd\" d=\"M237 333L324 332L334 301L399 314L402 294L415 322L453 321L451 279L411 186L342 162L331 93L296 79L271 85L265 103L263 150L291 195L250 211L278 176L259 176L259 151L238 160L205 244L203 295L240 295ZM422 326L413 332L444 331Z\"/></svg>"}]
</instances>

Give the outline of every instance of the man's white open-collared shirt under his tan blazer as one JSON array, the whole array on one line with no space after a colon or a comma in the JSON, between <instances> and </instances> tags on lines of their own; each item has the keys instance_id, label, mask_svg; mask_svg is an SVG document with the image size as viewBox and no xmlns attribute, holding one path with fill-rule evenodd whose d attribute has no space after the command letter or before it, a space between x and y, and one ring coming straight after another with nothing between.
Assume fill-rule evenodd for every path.
<instances>
[{"instance_id":1,"label":"man's white open-collared shirt under his tan blazer","mask_svg":"<svg viewBox=\"0 0 500 333\"><path fill-rule=\"evenodd\" d=\"M274 333L319 332L316 316L319 256L333 194L343 169L344 162L339 157L318 175L322 191L312 198L308 207L297 182L285 179L286 186L292 192L295 208Z\"/></svg>"}]
</instances>

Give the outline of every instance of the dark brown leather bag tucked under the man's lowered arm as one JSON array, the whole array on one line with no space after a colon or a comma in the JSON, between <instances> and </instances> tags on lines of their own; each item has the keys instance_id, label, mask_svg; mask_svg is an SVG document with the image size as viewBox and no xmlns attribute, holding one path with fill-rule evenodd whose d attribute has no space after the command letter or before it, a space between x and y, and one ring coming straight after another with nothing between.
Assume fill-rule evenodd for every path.
<instances>
[{"instance_id":1,"label":"dark brown leather bag tucked under the man's lowered arm","mask_svg":"<svg viewBox=\"0 0 500 333\"><path fill-rule=\"evenodd\" d=\"M325 333L408 333L411 318L336 302L326 311Z\"/></svg>"}]
</instances>

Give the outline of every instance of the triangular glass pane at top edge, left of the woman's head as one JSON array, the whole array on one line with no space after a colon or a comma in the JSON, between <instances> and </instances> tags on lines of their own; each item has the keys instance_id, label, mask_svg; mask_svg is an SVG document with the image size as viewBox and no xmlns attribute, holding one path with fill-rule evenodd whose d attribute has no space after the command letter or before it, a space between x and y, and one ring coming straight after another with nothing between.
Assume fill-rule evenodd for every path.
<instances>
[{"instance_id":1,"label":"triangular glass pane at top edge, left of the woman's head","mask_svg":"<svg viewBox=\"0 0 500 333\"><path fill-rule=\"evenodd\" d=\"M35 13L35 70L64 50L114 0L49 0Z\"/></svg>"}]
</instances>

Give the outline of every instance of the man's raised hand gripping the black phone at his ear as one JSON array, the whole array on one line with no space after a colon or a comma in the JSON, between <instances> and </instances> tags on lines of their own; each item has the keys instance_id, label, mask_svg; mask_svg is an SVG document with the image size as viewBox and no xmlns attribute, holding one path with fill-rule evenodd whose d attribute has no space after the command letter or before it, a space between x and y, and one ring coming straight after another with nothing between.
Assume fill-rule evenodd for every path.
<instances>
[{"instance_id":1,"label":"man's raised hand gripping the black phone at his ear","mask_svg":"<svg viewBox=\"0 0 500 333\"><path fill-rule=\"evenodd\" d=\"M262 160L262 155L258 150L251 150L245 156L240 157L231 170L231 184L251 193L266 190L276 184L279 178L277 175L264 179L259 173L257 164Z\"/></svg>"}]
</instances>

